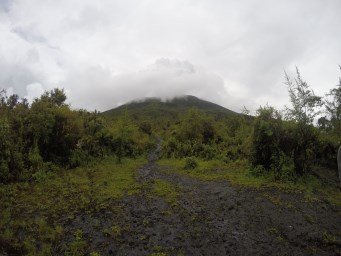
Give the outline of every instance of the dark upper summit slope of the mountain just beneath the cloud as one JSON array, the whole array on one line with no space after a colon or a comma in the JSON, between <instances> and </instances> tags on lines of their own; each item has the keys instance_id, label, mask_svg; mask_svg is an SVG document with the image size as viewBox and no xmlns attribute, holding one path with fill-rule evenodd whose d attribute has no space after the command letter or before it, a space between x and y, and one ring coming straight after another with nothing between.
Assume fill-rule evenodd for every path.
<instances>
[{"instance_id":1,"label":"dark upper summit slope of the mountain just beneath the cloud","mask_svg":"<svg viewBox=\"0 0 341 256\"><path fill-rule=\"evenodd\" d=\"M186 95L172 100L162 101L158 98L146 98L140 101L132 101L114 109L103 112L107 117L115 117L127 111L134 119L176 117L190 108L197 108L207 114L217 117L238 115L238 113L224 108L218 104Z\"/></svg>"}]
</instances>

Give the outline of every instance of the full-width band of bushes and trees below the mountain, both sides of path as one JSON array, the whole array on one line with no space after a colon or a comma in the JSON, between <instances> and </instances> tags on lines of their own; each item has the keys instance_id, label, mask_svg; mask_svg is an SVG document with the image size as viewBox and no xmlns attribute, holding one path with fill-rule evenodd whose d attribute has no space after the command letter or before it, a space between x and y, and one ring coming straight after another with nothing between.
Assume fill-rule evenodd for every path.
<instances>
[{"instance_id":1,"label":"full-width band of bushes and trees below the mountain, both sides of path","mask_svg":"<svg viewBox=\"0 0 341 256\"><path fill-rule=\"evenodd\" d=\"M170 119L108 118L73 110L63 90L45 92L31 104L0 91L0 183L34 180L37 174L75 168L92 160L147 154L155 137L166 158L247 161L254 175L295 180L313 166L336 169L341 143L341 80L316 96L299 70L285 75L291 105L260 107L255 116L218 117L190 109ZM193 164L195 166L195 163Z\"/></svg>"}]
</instances>

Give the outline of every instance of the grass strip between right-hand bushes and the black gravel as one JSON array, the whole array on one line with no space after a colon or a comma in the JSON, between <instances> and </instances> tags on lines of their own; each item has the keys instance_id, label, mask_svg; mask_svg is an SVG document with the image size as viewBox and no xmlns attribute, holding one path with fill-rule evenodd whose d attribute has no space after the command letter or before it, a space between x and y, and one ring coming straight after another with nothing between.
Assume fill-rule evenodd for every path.
<instances>
[{"instance_id":1,"label":"grass strip between right-hand bushes and the black gravel","mask_svg":"<svg viewBox=\"0 0 341 256\"><path fill-rule=\"evenodd\" d=\"M303 192L307 202L327 200L334 205L341 205L340 189L323 184L313 175L299 177L296 182L280 181L271 173L268 175L254 176L249 171L247 161L235 161L225 163L220 160L204 161L196 159L198 166L192 170L186 170L184 159L161 159L160 165L170 166L169 172L176 172L205 181L227 180L232 185L260 188L276 188L290 192Z\"/></svg>"}]
</instances>

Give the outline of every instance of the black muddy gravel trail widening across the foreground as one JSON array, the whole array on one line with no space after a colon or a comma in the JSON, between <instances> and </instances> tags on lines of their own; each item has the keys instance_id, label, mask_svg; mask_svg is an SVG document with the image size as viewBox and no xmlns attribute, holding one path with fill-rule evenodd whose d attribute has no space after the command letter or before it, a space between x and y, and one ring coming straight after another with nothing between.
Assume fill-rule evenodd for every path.
<instances>
[{"instance_id":1,"label":"black muddy gravel trail widening across the foreground","mask_svg":"<svg viewBox=\"0 0 341 256\"><path fill-rule=\"evenodd\" d=\"M336 206L174 174L156 163L159 151L137 170L140 193L73 221L101 255L341 255ZM155 194L160 181L174 200Z\"/></svg>"}]
</instances>

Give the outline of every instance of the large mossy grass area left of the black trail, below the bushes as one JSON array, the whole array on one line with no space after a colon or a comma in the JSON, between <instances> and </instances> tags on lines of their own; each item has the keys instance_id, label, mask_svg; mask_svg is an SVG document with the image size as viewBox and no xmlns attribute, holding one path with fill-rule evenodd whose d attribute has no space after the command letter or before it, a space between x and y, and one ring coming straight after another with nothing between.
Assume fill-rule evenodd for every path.
<instances>
[{"instance_id":1,"label":"large mossy grass area left of the black trail, below the bushes","mask_svg":"<svg viewBox=\"0 0 341 256\"><path fill-rule=\"evenodd\" d=\"M44 181L1 185L3 250L13 255L52 255L52 245L58 244L69 228L60 225L60 218L72 220L82 212L110 210L111 202L125 193L137 193L140 187L134 179L135 170L145 162L125 159L117 164L115 159L108 158L92 167L62 170ZM117 228L112 232L119 233ZM83 245L77 231L69 249L79 252L84 249Z\"/></svg>"}]
</instances>

